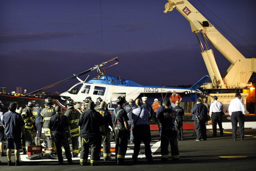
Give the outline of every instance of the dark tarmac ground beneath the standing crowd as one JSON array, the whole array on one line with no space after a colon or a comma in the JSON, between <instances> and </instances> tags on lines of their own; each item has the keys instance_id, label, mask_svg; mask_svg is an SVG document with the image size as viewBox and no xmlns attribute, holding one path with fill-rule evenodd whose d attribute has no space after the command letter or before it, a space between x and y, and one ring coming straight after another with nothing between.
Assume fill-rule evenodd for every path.
<instances>
[{"instance_id":1,"label":"dark tarmac ground beneath the standing crowd","mask_svg":"<svg viewBox=\"0 0 256 171\"><path fill-rule=\"evenodd\" d=\"M128 151L125 156L124 165L116 165L114 153L111 154L112 161L100 160L97 166L79 165L79 157L73 158L73 165L68 165L64 161L63 165L58 164L57 159L47 160L27 160L26 155L21 155L22 166L7 166L7 157L0 157L1 171L251 171L256 168L256 129L245 129L244 140L241 141L239 135L236 141L231 141L232 130L224 130L224 136L212 137L212 130L207 130L207 140L195 142L192 136L194 130L184 130L184 140L179 141L180 159L172 161L170 148L169 160L161 162L160 136L158 131L151 131L151 150L153 162L148 163L144 155L144 145L141 145L138 162L133 163L131 155L134 145L128 143ZM239 130L238 130L239 134ZM111 147L114 147L113 139ZM6 149L4 150L6 152ZM140 158L142 157L142 158ZM15 162L14 152L12 162ZM89 161L88 161L89 162Z\"/></svg>"}]
</instances>

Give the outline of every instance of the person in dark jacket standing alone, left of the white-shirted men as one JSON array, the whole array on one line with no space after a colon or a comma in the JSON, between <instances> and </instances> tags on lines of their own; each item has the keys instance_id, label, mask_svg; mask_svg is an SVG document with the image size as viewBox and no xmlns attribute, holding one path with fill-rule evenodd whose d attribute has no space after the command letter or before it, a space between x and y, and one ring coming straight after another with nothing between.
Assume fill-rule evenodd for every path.
<instances>
[{"instance_id":1,"label":"person in dark jacket standing alone, left of the white-shirted men","mask_svg":"<svg viewBox=\"0 0 256 171\"><path fill-rule=\"evenodd\" d=\"M208 109L204 104L202 104L201 99L198 98L196 100L196 103L197 104L191 109L191 113L193 114L192 120L194 120L194 126L197 136L195 141L200 141L201 138L206 140L207 134L205 122L208 120Z\"/></svg>"}]
</instances>

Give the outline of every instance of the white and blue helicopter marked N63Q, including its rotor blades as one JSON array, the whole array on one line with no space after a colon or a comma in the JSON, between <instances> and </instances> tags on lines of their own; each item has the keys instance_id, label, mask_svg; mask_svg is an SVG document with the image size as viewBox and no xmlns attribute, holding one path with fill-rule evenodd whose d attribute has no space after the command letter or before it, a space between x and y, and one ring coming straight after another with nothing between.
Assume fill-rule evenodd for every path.
<instances>
[{"instance_id":1,"label":"white and blue helicopter marked N63Q, including its rotor blades","mask_svg":"<svg viewBox=\"0 0 256 171\"><path fill-rule=\"evenodd\" d=\"M118 64L118 57L115 57L107 62L104 62L99 65L95 65L95 67L90 68L87 71L81 72L77 75L74 75L65 80L59 81L55 84L44 87L40 90L36 90L32 93L36 93L41 90L45 90L49 87L53 87L57 84L61 84L64 81L68 81L73 78L77 78L80 82L73 85L67 92L61 93L61 99L73 99L75 102L83 102L83 100L90 96L93 101L96 101L98 97L101 97L103 101L106 101L107 104L116 104L115 101L119 96L125 96L126 99L137 99L141 93L143 94L152 94L152 93L171 93L173 90L176 93L191 93L192 101L195 101L197 93L202 93L199 90L199 87L207 81L209 78L208 75L205 75L201 80L199 80L196 84L194 84L190 88L181 88L181 87L160 87L160 86L145 86L138 84L129 79L120 79L110 75L105 75L101 72L100 67L103 67L105 64L116 60L115 64ZM113 65L115 65L113 64ZM113 66L111 65L111 66ZM99 76L98 78L92 78L88 81L82 81L78 78L81 75L84 75L92 70L98 70ZM89 76L89 75L88 75ZM87 77L88 78L88 77ZM29 95L26 94L25 96Z\"/></svg>"}]
</instances>

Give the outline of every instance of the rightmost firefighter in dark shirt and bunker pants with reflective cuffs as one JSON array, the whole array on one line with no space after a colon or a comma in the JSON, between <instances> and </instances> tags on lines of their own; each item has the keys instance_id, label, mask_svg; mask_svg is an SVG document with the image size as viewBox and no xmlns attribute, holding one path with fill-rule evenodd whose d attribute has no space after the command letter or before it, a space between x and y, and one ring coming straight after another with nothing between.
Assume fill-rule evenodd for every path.
<instances>
[{"instance_id":1,"label":"rightmost firefighter in dark shirt and bunker pants with reflective cuffs","mask_svg":"<svg viewBox=\"0 0 256 171\"><path fill-rule=\"evenodd\" d=\"M177 141L177 128L175 126L175 119L177 117L177 113L175 110L170 108L171 102L169 100L164 101L166 109L160 112L159 114L159 123L161 125L161 161L165 162L168 160L169 151L168 146L169 143L171 145L171 154L172 159L179 159L179 148Z\"/></svg>"}]
</instances>

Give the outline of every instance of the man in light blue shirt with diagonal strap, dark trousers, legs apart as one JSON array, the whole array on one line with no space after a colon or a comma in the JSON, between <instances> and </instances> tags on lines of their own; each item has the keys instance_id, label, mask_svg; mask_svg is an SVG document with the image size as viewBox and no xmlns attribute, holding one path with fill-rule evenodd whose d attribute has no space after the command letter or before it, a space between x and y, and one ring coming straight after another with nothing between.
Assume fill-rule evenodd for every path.
<instances>
[{"instance_id":1,"label":"man in light blue shirt with diagonal strap, dark trousers, legs apart","mask_svg":"<svg viewBox=\"0 0 256 171\"><path fill-rule=\"evenodd\" d=\"M137 162L137 158L140 152L140 144L143 141L145 145L145 156L148 162L152 162L152 154L150 148L151 133L148 118L150 113L147 108L141 107L141 100L136 99L136 109L132 110L132 119L134 121L134 154L132 158L134 162Z\"/></svg>"}]
</instances>

